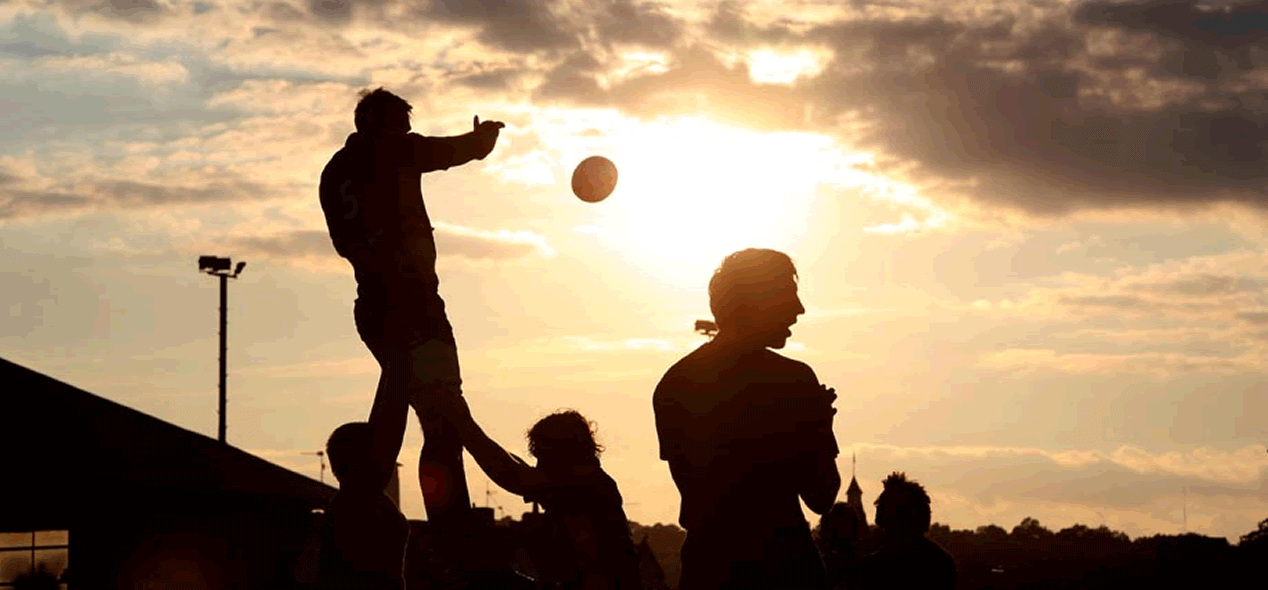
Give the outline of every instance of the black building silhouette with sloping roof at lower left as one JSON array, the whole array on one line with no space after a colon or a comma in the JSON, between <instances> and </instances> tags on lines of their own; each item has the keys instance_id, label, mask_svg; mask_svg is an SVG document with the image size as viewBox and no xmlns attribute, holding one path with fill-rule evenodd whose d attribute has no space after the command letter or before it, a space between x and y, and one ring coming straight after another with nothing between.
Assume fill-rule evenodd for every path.
<instances>
[{"instance_id":1,"label":"black building silhouette with sloping roof at lower left","mask_svg":"<svg viewBox=\"0 0 1268 590\"><path fill-rule=\"evenodd\" d=\"M294 586L333 487L4 359L0 383L0 533L61 544L70 587Z\"/></svg>"}]
</instances>

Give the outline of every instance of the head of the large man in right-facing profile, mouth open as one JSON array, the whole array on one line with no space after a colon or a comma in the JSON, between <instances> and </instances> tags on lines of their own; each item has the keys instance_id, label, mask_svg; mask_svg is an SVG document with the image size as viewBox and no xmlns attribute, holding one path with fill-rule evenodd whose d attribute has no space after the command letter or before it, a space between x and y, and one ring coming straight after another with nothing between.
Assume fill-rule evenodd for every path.
<instances>
[{"instance_id":1,"label":"head of the large man in right-facing profile, mouth open","mask_svg":"<svg viewBox=\"0 0 1268 590\"><path fill-rule=\"evenodd\" d=\"M796 294L796 266L787 254L747 249L727 256L709 280L709 308L719 335L784 348L805 313Z\"/></svg>"}]
</instances>

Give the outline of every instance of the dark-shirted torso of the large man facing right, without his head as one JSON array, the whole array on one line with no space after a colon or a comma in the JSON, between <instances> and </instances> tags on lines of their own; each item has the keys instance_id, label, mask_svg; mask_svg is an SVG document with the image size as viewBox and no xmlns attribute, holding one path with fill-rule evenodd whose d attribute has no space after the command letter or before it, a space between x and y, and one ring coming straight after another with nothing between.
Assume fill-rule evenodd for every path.
<instances>
[{"instance_id":1,"label":"dark-shirted torso of the large man facing right, without his head","mask_svg":"<svg viewBox=\"0 0 1268 590\"><path fill-rule=\"evenodd\" d=\"M685 571L689 585L823 586L800 500L818 443L805 410L823 395L809 367L766 349L706 343L666 373L658 423L681 438L662 458L696 471L678 478L680 524L695 537L685 560L713 572L704 582Z\"/></svg>"}]
</instances>

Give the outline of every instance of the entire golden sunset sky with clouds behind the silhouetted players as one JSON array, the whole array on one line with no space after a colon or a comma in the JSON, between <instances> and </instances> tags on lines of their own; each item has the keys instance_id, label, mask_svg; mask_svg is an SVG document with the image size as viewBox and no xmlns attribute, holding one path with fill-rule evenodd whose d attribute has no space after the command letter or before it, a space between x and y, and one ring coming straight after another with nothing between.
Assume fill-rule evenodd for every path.
<instances>
[{"instance_id":1,"label":"entire golden sunset sky with clouds behind the silhouetted players","mask_svg":"<svg viewBox=\"0 0 1268 590\"><path fill-rule=\"evenodd\" d=\"M869 506L905 471L954 528L1136 537L1187 487L1235 539L1268 516L1268 3L1206 4L0 0L0 355L216 436L197 258L245 260L228 439L317 477L378 378L317 180L382 85L422 133L507 124L424 179L464 388L521 454L593 419L633 520L677 514L652 391L766 246Z\"/></svg>"}]
</instances>

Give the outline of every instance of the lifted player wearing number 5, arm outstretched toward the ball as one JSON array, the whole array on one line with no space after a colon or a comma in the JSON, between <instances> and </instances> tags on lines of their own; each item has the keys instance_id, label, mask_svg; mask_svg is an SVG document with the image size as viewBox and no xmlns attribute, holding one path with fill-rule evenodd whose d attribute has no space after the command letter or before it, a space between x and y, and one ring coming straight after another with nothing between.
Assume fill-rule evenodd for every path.
<instances>
[{"instance_id":1,"label":"lifted player wearing number 5, arm outstretched toward the ball","mask_svg":"<svg viewBox=\"0 0 1268 590\"><path fill-rule=\"evenodd\" d=\"M321 204L335 250L356 275L356 330L382 368L379 396L408 390L422 424L418 481L427 519L443 529L469 511L470 499L462 443L427 409L430 392L460 393L462 377L420 181L425 173L483 160L503 124L477 117L470 133L425 137L410 132L411 109L382 88L361 93L356 132L322 171Z\"/></svg>"}]
</instances>

